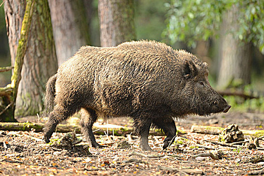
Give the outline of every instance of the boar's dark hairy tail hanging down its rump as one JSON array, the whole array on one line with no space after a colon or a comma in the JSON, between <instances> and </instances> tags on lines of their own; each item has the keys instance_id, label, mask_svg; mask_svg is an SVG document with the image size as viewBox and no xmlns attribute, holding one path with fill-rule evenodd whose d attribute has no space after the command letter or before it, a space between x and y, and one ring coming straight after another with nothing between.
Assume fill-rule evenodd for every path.
<instances>
[{"instance_id":1,"label":"boar's dark hairy tail hanging down its rump","mask_svg":"<svg viewBox=\"0 0 264 176\"><path fill-rule=\"evenodd\" d=\"M49 116L49 113L53 110L56 80L57 80L57 74L54 74L53 76L49 78L46 84L44 116Z\"/></svg>"}]
</instances>

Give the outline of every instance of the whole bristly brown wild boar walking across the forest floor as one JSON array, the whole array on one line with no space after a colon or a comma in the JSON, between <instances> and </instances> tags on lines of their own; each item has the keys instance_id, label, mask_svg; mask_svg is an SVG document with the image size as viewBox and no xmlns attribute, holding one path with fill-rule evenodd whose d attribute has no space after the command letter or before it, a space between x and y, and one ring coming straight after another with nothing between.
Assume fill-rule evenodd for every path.
<instances>
[{"instance_id":1,"label":"whole bristly brown wild boar walking across the forest floor","mask_svg":"<svg viewBox=\"0 0 264 176\"><path fill-rule=\"evenodd\" d=\"M185 50L144 40L82 46L48 80L45 106L51 111L44 128L47 143L57 124L81 111L81 130L93 147L100 147L92 131L98 116L125 116L132 118L143 150L151 150L151 126L164 131L166 148L176 134L174 118L231 107L211 87L207 63Z\"/></svg>"}]
</instances>

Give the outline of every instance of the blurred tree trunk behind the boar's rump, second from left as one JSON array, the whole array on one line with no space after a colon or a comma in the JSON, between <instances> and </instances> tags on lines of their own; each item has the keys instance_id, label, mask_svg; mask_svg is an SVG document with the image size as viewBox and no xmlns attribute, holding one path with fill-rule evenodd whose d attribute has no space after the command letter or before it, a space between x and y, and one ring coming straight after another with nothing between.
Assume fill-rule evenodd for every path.
<instances>
[{"instance_id":1,"label":"blurred tree trunk behind the boar's rump, second from left","mask_svg":"<svg viewBox=\"0 0 264 176\"><path fill-rule=\"evenodd\" d=\"M82 45L90 45L89 15L85 7L90 0L48 0L58 64L71 57Z\"/></svg>"}]
</instances>

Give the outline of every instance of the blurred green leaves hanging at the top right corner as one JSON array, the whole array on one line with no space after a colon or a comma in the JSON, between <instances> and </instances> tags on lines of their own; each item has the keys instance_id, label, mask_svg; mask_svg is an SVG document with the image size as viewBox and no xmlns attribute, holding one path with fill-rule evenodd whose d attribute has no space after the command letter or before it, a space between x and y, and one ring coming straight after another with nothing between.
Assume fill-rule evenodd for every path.
<instances>
[{"instance_id":1,"label":"blurred green leaves hanging at the top right corner","mask_svg":"<svg viewBox=\"0 0 264 176\"><path fill-rule=\"evenodd\" d=\"M197 40L217 37L227 10L238 6L239 29L230 31L242 42L252 42L264 53L264 1L261 0L171 0L166 3L167 27L163 36L171 43L183 41L191 47Z\"/></svg>"}]
</instances>

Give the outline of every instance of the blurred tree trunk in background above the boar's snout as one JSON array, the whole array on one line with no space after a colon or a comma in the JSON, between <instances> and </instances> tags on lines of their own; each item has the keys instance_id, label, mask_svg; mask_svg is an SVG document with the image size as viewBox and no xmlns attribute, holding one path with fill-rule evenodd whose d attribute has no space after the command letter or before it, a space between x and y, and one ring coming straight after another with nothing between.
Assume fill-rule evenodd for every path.
<instances>
[{"instance_id":1,"label":"blurred tree trunk in background above the boar's snout","mask_svg":"<svg viewBox=\"0 0 264 176\"><path fill-rule=\"evenodd\" d=\"M223 89L227 86L239 86L250 83L251 76L251 44L235 39L234 31L237 23L239 9L233 6L223 21L223 34L221 46L221 63L218 75L218 86Z\"/></svg>"}]
</instances>

